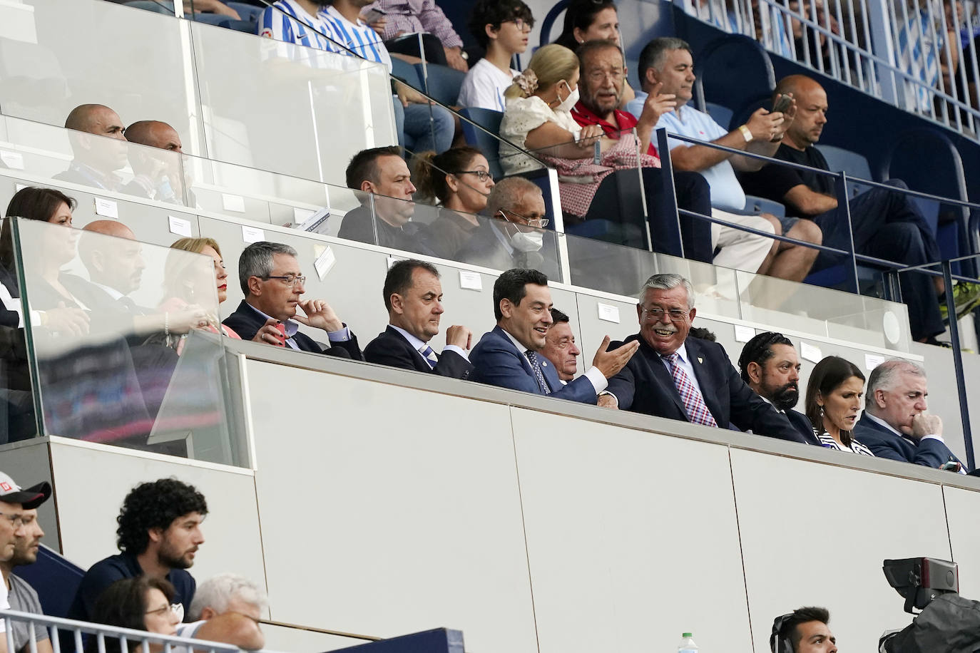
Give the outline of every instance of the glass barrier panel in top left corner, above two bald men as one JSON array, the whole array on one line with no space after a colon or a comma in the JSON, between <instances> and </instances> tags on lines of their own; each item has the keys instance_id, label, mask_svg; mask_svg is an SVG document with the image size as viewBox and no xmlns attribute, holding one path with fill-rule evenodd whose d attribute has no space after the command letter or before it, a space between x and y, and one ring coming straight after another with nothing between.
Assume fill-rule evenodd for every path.
<instances>
[{"instance_id":1,"label":"glass barrier panel in top left corner, above two bald men","mask_svg":"<svg viewBox=\"0 0 980 653\"><path fill-rule=\"evenodd\" d=\"M187 152L200 152L182 22L111 2L23 4L31 10L29 29L0 33L4 114L60 126L75 107L97 103L111 108L121 126L143 119L167 122ZM93 39L98 47L92 47Z\"/></svg>"}]
</instances>

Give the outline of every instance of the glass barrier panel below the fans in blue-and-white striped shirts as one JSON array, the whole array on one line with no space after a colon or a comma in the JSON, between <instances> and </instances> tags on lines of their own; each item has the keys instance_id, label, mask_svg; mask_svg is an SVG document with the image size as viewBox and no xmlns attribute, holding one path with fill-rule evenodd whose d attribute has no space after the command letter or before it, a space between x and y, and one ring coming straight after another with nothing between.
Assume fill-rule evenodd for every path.
<instances>
[{"instance_id":1,"label":"glass barrier panel below the fans in blue-and-white striped shirts","mask_svg":"<svg viewBox=\"0 0 980 653\"><path fill-rule=\"evenodd\" d=\"M355 153L398 143L384 67L213 25L190 28L210 158L340 182Z\"/></svg>"}]
</instances>

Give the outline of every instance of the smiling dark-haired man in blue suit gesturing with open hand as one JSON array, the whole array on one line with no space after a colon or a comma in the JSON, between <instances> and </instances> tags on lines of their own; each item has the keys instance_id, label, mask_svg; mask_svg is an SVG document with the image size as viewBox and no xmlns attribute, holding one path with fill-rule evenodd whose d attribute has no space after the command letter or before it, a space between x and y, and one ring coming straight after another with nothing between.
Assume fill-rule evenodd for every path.
<instances>
[{"instance_id":1,"label":"smiling dark-haired man in blue suit gesturing with open hand","mask_svg":"<svg viewBox=\"0 0 980 653\"><path fill-rule=\"evenodd\" d=\"M471 381L595 403L608 379L622 369L637 349L637 345L628 344L607 350L610 337L606 336L592 359L592 367L563 386L555 366L541 353L554 321L548 277L537 270L507 270L493 285L493 301L497 326L483 334L469 354L473 364Z\"/></svg>"}]
</instances>

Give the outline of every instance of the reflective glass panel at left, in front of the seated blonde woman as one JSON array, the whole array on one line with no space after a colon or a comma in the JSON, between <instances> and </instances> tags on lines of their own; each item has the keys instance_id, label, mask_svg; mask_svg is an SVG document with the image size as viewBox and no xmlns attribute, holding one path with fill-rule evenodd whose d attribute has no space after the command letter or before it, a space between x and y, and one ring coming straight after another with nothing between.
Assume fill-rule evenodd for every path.
<instances>
[{"instance_id":1,"label":"reflective glass panel at left, in front of the seated blonde woman","mask_svg":"<svg viewBox=\"0 0 980 653\"><path fill-rule=\"evenodd\" d=\"M241 464L212 257L11 221L40 432Z\"/></svg>"}]
</instances>

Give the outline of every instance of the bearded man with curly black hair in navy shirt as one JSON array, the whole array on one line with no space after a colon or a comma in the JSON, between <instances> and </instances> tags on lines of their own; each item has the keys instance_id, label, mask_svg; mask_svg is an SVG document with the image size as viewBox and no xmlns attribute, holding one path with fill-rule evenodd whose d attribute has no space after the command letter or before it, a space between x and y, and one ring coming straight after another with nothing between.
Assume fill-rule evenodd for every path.
<instances>
[{"instance_id":1,"label":"bearded man with curly black hair in navy shirt","mask_svg":"<svg viewBox=\"0 0 980 653\"><path fill-rule=\"evenodd\" d=\"M143 483L130 490L116 520L121 553L100 560L85 572L68 618L91 621L95 601L106 587L142 575L169 581L173 603L183 604L186 613L197 586L187 569L204 543L201 522L207 514L204 495L176 479Z\"/></svg>"}]
</instances>

